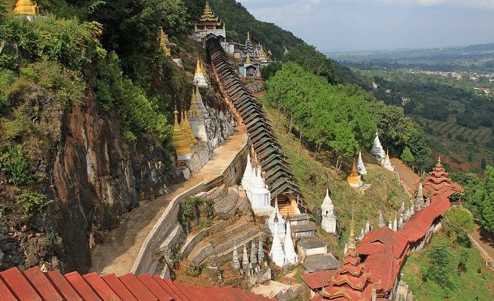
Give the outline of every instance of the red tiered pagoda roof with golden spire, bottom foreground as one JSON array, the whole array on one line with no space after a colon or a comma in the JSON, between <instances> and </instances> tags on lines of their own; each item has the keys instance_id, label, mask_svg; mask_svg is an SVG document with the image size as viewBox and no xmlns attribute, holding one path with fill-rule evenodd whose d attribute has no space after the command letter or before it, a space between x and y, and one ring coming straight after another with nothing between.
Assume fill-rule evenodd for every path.
<instances>
[{"instance_id":1,"label":"red tiered pagoda roof with golden spire, bottom foreground","mask_svg":"<svg viewBox=\"0 0 494 301\"><path fill-rule=\"evenodd\" d=\"M370 283L370 274L365 270L356 251L355 221L351 219L348 250L343 264L330 278L329 285L320 291L320 296L313 300L370 300L373 285Z\"/></svg>"}]
</instances>

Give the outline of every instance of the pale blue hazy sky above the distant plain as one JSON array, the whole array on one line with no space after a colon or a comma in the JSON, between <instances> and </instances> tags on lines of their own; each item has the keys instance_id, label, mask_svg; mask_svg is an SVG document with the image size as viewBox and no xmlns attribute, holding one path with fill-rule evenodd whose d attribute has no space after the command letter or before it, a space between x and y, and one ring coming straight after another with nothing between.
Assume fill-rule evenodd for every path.
<instances>
[{"instance_id":1,"label":"pale blue hazy sky above the distant plain","mask_svg":"<svg viewBox=\"0 0 494 301\"><path fill-rule=\"evenodd\" d=\"M494 0L237 0L320 51L494 42Z\"/></svg>"}]
</instances>

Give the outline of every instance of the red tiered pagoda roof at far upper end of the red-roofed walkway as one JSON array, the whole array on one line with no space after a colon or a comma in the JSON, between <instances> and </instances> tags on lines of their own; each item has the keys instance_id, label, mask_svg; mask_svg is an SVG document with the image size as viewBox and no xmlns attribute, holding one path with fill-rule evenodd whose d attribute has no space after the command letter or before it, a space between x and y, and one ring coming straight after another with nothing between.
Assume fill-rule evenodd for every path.
<instances>
[{"instance_id":1,"label":"red tiered pagoda roof at far upper end of the red-roofed walkway","mask_svg":"<svg viewBox=\"0 0 494 301\"><path fill-rule=\"evenodd\" d=\"M438 163L435 164L433 171L431 171L425 180L423 180L423 192L427 197L433 195L442 195L443 197L450 197L454 192L463 192L464 189L457 183L454 183L451 178L448 177L445 168L442 167L441 158L439 157Z\"/></svg>"}]
</instances>

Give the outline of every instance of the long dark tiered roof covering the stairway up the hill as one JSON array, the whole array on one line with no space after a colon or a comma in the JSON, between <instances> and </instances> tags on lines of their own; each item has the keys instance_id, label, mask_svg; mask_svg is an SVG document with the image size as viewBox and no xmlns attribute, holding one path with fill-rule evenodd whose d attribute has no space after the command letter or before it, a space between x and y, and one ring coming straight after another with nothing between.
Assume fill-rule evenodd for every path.
<instances>
[{"instance_id":1,"label":"long dark tiered roof covering the stairway up the hill","mask_svg":"<svg viewBox=\"0 0 494 301\"><path fill-rule=\"evenodd\" d=\"M251 145L255 149L269 186L271 197L291 193L300 195L299 184L291 173L287 158L282 154L272 126L267 121L263 106L254 97L222 48L215 35L207 36L214 76L224 98L237 118L246 126Z\"/></svg>"}]
</instances>

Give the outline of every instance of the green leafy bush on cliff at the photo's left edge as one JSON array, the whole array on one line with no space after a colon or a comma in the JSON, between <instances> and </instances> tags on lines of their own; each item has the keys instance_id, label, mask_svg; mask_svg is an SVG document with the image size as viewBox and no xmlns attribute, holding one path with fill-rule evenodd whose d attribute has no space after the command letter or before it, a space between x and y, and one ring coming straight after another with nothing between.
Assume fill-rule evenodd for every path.
<instances>
[{"instance_id":1,"label":"green leafy bush on cliff at the photo's left edge","mask_svg":"<svg viewBox=\"0 0 494 301\"><path fill-rule=\"evenodd\" d=\"M8 152L0 156L0 168L6 174L8 182L13 185L20 186L32 180L29 161L25 158L20 145L11 147Z\"/></svg>"}]
</instances>

